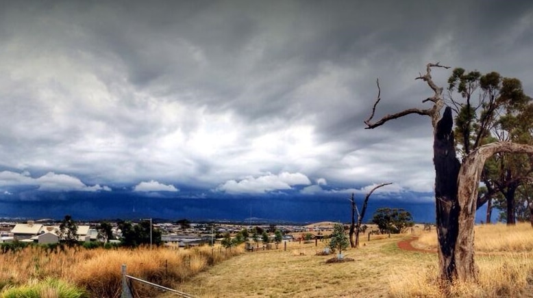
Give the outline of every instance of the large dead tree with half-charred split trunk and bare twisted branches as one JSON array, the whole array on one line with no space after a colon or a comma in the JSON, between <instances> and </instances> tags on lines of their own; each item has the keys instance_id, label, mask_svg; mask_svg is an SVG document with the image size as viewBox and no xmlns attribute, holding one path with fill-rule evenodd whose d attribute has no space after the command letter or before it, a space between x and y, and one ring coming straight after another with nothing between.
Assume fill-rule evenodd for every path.
<instances>
[{"instance_id":1,"label":"large dead tree with half-charred split trunk and bare twisted branches","mask_svg":"<svg viewBox=\"0 0 533 298\"><path fill-rule=\"evenodd\" d=\"M384 116L372 122L377 103L380 102L380 85L377 81L377 98L371 115L364 124L366 128L376 128L389 120L416 113L430 116L432 120L434 142L433 161L435 166L435 204L436 229L438 236L439 277L444 284L454 280L476 280L478 270L474 263L473 226L478 201L478 187L484 163L488 157L497 152L533 153L533 146L499 141L480 146L470 152L460 163L456 157L451 108L446 107L441 118L441 109L445 107L442 97L443 88L432 80L432 68L449 68L440 64L427 64L421 79L430 86L434 96L422 103L431 102L429 109L406 109Z\"/></svg>"}]
</instances>

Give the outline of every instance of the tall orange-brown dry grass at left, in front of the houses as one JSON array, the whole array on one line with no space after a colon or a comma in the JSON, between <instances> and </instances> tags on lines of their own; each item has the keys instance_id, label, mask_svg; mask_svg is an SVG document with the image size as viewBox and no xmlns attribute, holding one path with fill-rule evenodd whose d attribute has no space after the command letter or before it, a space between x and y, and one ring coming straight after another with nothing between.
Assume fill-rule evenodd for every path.
<instances>
[{"instance_id":1,"label":"tall orange-brown dry grass at left, in front of the houses","mask_svg":"<svg viewBox=\"0 0 533 298\"><path fill-rule=\"evenodd\" d=\"M42 247L26 247L18 252L0 254L0 288L23 286L34 280L54 277L85 288L91 297L119 297L121 267L127 274L173 288L179 282L203 271L210 265L243 252L219 247L167 249L84 249L58 247L47 251ZM153 289L134 282L141 297L156 295ZM1 295L1 292L0 292Z\"/></svg>"}]
</instances>

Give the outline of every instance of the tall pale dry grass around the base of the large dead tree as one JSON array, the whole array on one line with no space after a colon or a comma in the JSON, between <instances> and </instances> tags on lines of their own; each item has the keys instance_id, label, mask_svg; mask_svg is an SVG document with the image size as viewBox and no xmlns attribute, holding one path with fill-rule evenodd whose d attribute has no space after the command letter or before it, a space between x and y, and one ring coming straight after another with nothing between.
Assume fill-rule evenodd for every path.
<instances>
[{"instance_id":1,"label":"tall pale dry grass around the base of the large dead tree","mask_svg":"<svg viewBox=\"0 0 533 298\"><path fill-rule=\"evenodd\" d=\"M415 246L436 249L436 232L422 234ZM449 297L524 297L533 290L533 229L528 223L475 227L478 282L456 283ZM445 297L439 287L437 259L422 269L404 267L389 277L393 297Z\"/></svg>"}]
</instances>

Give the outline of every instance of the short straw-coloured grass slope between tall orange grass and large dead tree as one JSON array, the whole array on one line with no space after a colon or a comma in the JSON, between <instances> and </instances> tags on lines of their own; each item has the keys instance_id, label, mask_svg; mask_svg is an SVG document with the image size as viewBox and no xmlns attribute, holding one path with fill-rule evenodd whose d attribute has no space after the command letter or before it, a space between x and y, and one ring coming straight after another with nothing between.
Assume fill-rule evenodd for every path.
<instances>
[{"instance_id":1,"label":"short straw-coloured grass slope between tall orange grass and large dead tree","mask_svg":"<svg viewBox=\"0 0 533 298\"><path fill-rule=\"evenodd\" d=\"M177 288L199 297L387 297L395 269L436 261L431 254L400 251L397 242L405 237L363 241L345 252L354 262L337 264L325 263L332 256L315 256L325 243L288 243L286 252L280 245L236 256Z\"/></svg>"}]
</instances>

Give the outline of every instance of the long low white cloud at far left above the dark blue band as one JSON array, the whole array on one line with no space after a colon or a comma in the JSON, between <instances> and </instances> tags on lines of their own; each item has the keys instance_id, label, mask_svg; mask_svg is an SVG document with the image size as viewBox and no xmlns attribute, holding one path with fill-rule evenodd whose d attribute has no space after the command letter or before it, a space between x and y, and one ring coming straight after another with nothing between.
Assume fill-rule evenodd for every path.
<instances>
[{"instance_id":1,"label":"long low white cloud at far left above the dark blue band","mask_svg":"<svg viewBox=\"0 0 533 298\"><path fill-rule=\"evenodd\" d=\"M38 178L32 178L29 172L0 172L0 186L36 186L40 191L111 191L110 187L88 186L79 178L65 174L48 172Z\"/></svg>"}]
</instances>

